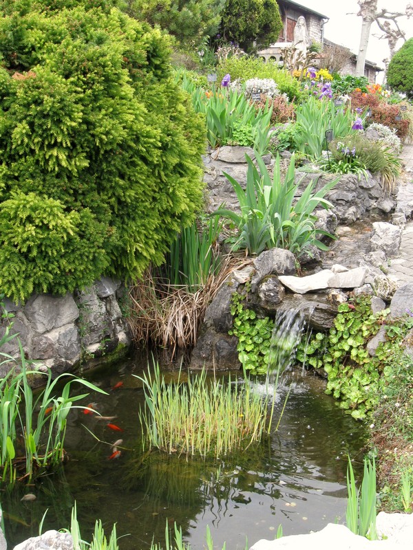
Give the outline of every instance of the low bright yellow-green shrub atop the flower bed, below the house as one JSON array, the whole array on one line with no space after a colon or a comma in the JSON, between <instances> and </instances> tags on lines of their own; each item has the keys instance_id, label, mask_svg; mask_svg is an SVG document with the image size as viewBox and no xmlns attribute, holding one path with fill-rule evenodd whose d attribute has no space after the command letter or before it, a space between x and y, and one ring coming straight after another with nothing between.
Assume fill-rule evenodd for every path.
<instances>
[{"instance_id":1,"label":"low bright yellow-green shrub atop the flower bed, below the house","mask_svg":"<svg viewBox=\"0 0 413 550\"><path fill-rule=\"evenodd\" d=\"M295 80L286 69L280 69L277 63L253 56L232 56L222 58L217 65L218 82L225 74L231 74L231 80L241 80L242 83L250 78L272 78L279 88L280 94L286 94L290 100L301 97L298 80Z\"/></svg>"}]
</instances>

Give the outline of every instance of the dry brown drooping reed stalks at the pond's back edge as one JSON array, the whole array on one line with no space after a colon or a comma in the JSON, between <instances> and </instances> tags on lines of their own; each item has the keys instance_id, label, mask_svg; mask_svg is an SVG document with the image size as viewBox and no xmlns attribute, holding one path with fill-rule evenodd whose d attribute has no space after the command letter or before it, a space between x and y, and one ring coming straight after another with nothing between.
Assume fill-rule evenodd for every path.
<instances>
[{"instance_id":1,"label":"dry brown drooping reed stalks at the pond's back edge","mask_svg":"<svg viewBox=\"0 0 413 550\"><path fill-rule=\"evenodd\" d=\"M209 276L207 284L191 293L171 286L147 270L139 283L129 289L131 314L128 322L134 342L154 344L171 350L193 347L200 323L215 294L233 270L251 263L244 256L226 256L220 272Z\"/></svg>"}]
</instances>

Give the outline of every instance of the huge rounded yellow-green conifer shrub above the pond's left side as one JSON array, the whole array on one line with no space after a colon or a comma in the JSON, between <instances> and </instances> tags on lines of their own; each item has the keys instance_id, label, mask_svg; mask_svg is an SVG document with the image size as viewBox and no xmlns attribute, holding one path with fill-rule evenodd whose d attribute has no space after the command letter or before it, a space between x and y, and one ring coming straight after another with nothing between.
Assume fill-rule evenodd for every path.
<instances>
[{"instance_id":1,"label":"huge rounded yellow-green conifer shrub above the pond's left side","mask_svg":"<svg viewBox=\"0 0 413 550\"><path fill-rule=\"evenodd\" d=\"M0 265L14 270L0 283L16 300L140 276L202 204L202 118L165 36L116 8L36 5L0 12Z\"/></svg>"}]
</instances>

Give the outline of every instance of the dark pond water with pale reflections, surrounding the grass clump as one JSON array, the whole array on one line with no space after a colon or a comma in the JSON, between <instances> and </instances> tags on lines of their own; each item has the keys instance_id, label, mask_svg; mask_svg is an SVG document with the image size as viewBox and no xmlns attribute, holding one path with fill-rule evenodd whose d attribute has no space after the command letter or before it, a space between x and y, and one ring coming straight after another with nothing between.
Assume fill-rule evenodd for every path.
<instances>
[{"instance_id":1,"label":"dark pond water with pale reflections, surrounding the grass clump","mask_svg":"<svg viewBox=\"0 0 413 550\"><path fill-rule=\"evenodd\" d=\"M238 550L246 538L249 546L275 538L279 524L289 535L321 529L337 518L343 522L347 454L360 472L366 434L324 395L324 382L301 370L288 373L277 397L278 418L290 388L278 430L276 418L266 441L218 464L157 452L142 455L138 410L143 391L134 375L146 365L146 358L135 358L88 375L108 395L90 395L85 406L96 402L100 414L116 417L112 423L124 431L110 430L107 421L81 408L71 412L64 467L32 487L1 493L9 549L39 533L46 509L43 531L68 527L75 501L83 538L90 540L96 518L107 533L116 522L118 536L129 533L120 539L120 550L162 543L165 526L174 522L193 550L204 548L207 525L215 548L226 541L229 550ZM178 372L165 376L176 380ZM118 382L123 385L112 390ZM126 449L109 460L110 444L120 437ZM22 503L28 492L36 500Z\"/></svg>"}]
</instances>

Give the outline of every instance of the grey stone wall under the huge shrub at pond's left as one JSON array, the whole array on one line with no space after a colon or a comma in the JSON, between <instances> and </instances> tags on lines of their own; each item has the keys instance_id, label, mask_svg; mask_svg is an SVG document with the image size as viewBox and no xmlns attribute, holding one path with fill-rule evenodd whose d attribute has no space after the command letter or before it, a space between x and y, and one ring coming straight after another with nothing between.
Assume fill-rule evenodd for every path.
<instances>
[{"instance_id":1,"label":"grey stone wall under the huge shrub at pond's left","mask_svg":"<svg viewBox=\"0 0 413 550\"><path fill-rule=\"evenodd\" d=\"M14 315L10 333L17 334L3 344L1 352L19 357L19 342L26 358L39 362L39 370L52 369L54 375L74 371L79 364L105 362L129 348L131 338L120 311L120 282L103 277L82 292L52 296L34 294L24 305L3 300ZM0 324L0 338L9 320ZM3 377L10 364L0 366ZM41 382L40 382L41 383Z\"/></svg>"}]
</instances>

